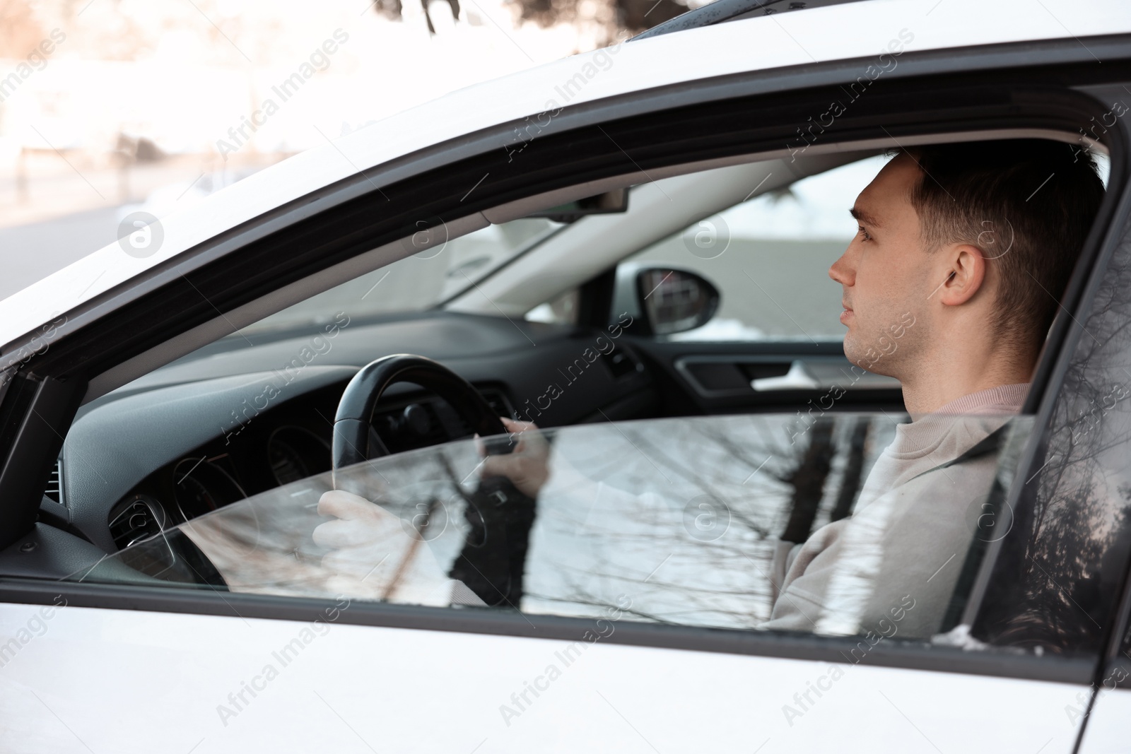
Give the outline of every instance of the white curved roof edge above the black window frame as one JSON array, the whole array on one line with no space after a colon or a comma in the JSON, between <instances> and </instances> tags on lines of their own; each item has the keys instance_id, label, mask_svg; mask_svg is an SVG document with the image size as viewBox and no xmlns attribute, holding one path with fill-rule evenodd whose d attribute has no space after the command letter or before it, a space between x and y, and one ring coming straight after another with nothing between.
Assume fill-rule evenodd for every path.
<instances>
[{"instance_id":1,"label":"white curved roof edge above the black window frame","mask_svg":"<svg viewBox=\"0 0 1131 754\"><path fill-rule=\"evenodd\" d=\"M862 0L619 43L466 87L290 157L159 218L164 240L150 257L131 257L113 243L0 301L0 344L29 337L68 312L74 313L68 324L79 326L98 315L104 302L93 300L114 287L365 168L567 104L697 79L878 57L892 41L901 41L906 52L921 52L1131 33L1131 3L1124 0L1042 0L1041 7L1044 10L1034 10L1030 0L940 0L933 7L924 0ZM578 77L584 85L566 99L562 86ZM14 357L6 356L0 367Z\"/></svg>"}]
</instances>

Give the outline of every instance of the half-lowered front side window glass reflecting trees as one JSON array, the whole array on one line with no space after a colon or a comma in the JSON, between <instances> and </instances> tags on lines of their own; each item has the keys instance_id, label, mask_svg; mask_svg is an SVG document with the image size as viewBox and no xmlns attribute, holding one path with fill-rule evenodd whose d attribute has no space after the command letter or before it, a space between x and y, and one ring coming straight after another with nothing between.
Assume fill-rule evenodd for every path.
<instances>
[{"instance_id":1,"label":"half-lowered front side window glass reflecting trees","mask_svg":"<svg viewBox=\"0 0 1131 754\"><path fill-rule=\"evenodd\" d=\"M1030 419L940 418L947 432L996 430L1000 442L949 466L929 459L923 471L946 485L888 494L862 480L898 418L727 416L547 431L538 437L549 443L550 482L536 500L481 478L480 445L452 442L294 482L113 560L171 587L930 638L946 627L958 563L985 538L987 495L1010 475ZM333 488L377 505L337 519L323 501L320 514ZM822 579L783 598L791 558L808 557L797 543L812 532L840 547L826 553Z\"/></svg>"}]
</instances>

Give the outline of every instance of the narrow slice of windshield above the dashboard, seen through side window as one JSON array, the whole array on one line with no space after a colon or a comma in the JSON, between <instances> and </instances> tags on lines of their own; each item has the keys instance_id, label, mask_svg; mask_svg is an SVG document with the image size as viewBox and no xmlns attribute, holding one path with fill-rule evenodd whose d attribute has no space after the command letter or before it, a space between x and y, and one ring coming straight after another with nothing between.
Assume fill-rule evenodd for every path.
<instances>
[{"instance_id":1,"label":"narrow slice of windshield above the dashboard, seen through side window","mask_svg":"<svg viewBox=\"0 0 1131 754\"><path fill-rule=\"evenodd\" d=\"M437 235L434 245L361 275L266 317L230 337L322 324L327 312L348 311L365 320L375 314L431 309L472 287L500 266L529 251L562 227L545 218L489 225L458 239Z\"/></svg>"}]
</instances>

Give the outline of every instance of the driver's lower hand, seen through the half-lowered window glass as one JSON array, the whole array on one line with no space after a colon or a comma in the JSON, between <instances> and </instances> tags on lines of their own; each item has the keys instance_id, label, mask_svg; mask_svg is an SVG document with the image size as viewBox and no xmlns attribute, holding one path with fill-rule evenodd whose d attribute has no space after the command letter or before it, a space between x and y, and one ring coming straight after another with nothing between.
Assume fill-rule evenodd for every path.
<instances>
[{"instance_id":1,"label":"driver's lower hand, seen through the half-lowered window glass","mask_svg":"<svg viewBox=\"0 0 1131 754\"><path fill-rule=\"evenodd\" d=\"M336 520L319 525L314 544L329 547L322 566L334 571L335 589L352 597L415 605L448 605L450 580L432 548L411 525L342 489L318 501L318 512Z\"/></svg>"}]
</instances>

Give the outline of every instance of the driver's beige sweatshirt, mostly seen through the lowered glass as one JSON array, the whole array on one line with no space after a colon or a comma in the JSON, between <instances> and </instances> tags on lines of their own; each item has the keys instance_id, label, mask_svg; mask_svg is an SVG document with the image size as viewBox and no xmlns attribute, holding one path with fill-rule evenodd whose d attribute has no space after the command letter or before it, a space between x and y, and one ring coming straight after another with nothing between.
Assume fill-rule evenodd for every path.
<instances>
[{"instance_id":1,"label":"driver's beige sweatshirt, mostly seen through the lowered glass","mask_svg":"<svg viewBox=\"0 0 1131 754\"><path fill-rule=\"evenodd\" d=\"M852 517L821 527L802 545L778 544L771 570L774 610L759 627L884 633L893 630L887 626L896 610L913 604L898 613L900 635L936 633L998 454L942 465L1002 426L1020 409L1028 388L1008 384L976 392L896 427L896 439L872 467Z\"/></svg>"}]
</instances>

